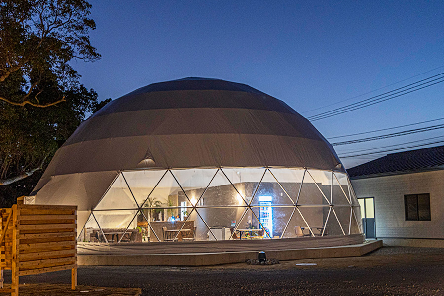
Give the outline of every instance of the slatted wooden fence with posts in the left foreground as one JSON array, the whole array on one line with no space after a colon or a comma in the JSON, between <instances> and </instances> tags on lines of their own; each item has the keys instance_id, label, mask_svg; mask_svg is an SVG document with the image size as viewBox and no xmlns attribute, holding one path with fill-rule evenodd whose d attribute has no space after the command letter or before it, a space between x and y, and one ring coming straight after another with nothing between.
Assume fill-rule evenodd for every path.
<instances>
[{"instance_id":1,"label":"slatted wooden fence with posts in the left foreground","mask_svg":"<svg viewBox=\"0 0 444 296\"><path fill-rule=\"evenodd\" d=\"M77 286L77 206L25 205L0 209L0 292L18 296L19 276L71 269ZM3 270L12 270L11 289Z\"/></svg>"}]
</instances>

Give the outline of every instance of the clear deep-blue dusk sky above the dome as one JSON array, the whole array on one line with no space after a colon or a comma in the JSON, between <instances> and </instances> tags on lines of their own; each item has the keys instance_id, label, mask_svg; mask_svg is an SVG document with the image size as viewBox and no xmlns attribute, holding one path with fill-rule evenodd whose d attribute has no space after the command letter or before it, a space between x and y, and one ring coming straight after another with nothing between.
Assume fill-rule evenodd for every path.
<instances>
[{"instance_id":1,"label":"clear deep-blue dusk sky above the dome","mask_svg":"<svg viewBox=\"0 0 444 296\"><path fill-rule=\"evenodd\" d=\"M102 59L73 65L100 99L154 82L214 77L255 87L307 117L444 72L443 67L307 112L444 66L444 1L90 3L97 25L91 42ZM329 138L441 118L443 91L440 83L313 124ZM443 131L335 149L341 154L442 136ZM367 160L343 162L351 167Z\"/></svg>"}]
</instances>

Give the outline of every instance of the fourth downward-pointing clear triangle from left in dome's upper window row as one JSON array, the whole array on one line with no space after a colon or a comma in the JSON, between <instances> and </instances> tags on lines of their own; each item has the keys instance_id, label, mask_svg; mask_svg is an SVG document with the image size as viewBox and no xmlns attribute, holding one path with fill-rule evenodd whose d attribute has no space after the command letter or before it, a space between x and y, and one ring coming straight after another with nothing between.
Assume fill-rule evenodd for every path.
<instances>
[{"instance_id":1,"label":"fourth downward-pointing clear triangle from left in dome's upper window row","mask_svg":"<svg viewBox=\"0 0 444 296\"><path fill-rule=\"evenodd\" d=\"M304 169L270 169L279 184L296 204L299 188L304 177Z\"/></svg>"}]
</instances>

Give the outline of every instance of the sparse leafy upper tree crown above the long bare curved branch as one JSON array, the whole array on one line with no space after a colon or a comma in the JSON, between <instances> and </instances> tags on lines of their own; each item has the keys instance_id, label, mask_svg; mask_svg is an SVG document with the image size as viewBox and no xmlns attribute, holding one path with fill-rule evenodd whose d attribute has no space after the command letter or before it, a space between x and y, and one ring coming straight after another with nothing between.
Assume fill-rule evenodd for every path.
<instances>
[{"instance_id":1,"label":"sparse leafy upper tree crown above the long bare curved branch","mask_svg":"<svg viewBox=\"0 0 444 296\"><path fill-rule=\"evenodd\" d=\"M49 107L67 100L79 78L69 61L100 58L89 41L90 9L85 0L0 2L1 101Z\"/></svg>"}]
</instances>

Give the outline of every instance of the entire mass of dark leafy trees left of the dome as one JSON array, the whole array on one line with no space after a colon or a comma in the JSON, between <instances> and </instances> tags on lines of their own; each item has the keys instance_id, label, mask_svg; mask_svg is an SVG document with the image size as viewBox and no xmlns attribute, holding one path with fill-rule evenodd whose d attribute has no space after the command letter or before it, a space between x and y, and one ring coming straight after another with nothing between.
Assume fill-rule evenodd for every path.
<instances>
[{"instance_id":1,"label":"entire mass of dark leafy trees left of the dome","mask_svg":"<svg viewBox=\"0 0 444 296\"><path fill-rule=\"evenodd\" d=\"M69 64L100 58L90 8L85 0L0 1L0 201L29 194L57 148L110 101L99 103Z\"/></svg>"}]
</instances>

